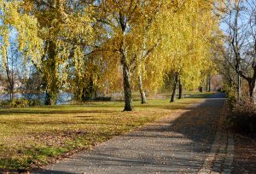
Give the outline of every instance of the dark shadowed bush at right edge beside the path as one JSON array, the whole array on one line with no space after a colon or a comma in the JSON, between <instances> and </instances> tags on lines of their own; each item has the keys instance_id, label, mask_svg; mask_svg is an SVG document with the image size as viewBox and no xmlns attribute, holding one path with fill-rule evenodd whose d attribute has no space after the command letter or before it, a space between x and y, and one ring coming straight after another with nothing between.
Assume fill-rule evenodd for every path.
<instances>
[{"instance_id":1,"label":"dark shadowed bush at right edge beside the path","mask_svg":"<svg viewBox=\"0 0 256 174\"><path fill-rule=\"evenodd\" d=\"M249 100L232 103L232 115L229 117L230 125L239 131L253 132L256 131L256 107Z\"/></svg>"}]
</instances>

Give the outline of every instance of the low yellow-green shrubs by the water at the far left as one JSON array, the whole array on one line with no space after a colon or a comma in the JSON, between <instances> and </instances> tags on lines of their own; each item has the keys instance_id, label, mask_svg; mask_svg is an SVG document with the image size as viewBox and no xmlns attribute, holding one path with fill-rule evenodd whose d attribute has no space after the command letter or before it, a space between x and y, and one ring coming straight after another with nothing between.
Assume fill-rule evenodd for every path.
<instances>
[{"instance_id":1,"label":"low yellow-green shrubs by the water at the far left","mask_svg":"<svg viewBox=\"0 0 256 174\"><path fill-rule=\"evenodd\" d=\"M13 101L1 102L1 106L4 108L34 107L39 105L41 105L39 100L14 99Z\"/></svg>"}]
</instances>

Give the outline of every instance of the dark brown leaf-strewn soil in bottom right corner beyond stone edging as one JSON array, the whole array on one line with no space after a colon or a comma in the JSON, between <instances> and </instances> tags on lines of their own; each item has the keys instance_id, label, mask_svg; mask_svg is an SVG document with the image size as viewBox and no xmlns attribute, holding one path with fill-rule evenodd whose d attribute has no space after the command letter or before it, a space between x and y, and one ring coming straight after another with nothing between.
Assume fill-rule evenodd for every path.
<instances>
[{"instance_id":1,"label":"dark brown leaf-strewn soil in bottom right corner beyond stone edging","mask_svg":"<svg viewBox=\"0 0 256 174\"><path fill-rule=\"evenodd\" d=\"M256 173L256 133L236 134L232 173Z\"/></svg>"}]
</instances>

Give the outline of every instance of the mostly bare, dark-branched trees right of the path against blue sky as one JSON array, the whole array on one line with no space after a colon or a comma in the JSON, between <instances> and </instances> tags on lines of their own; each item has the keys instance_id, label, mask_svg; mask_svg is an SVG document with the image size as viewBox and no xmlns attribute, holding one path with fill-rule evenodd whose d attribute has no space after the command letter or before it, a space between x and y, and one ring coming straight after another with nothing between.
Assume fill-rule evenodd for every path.
<instances>
[{"instance_id":1,"label":"mostly bare, dark-branched trees right of the path against blue sky","mask_svg":"<svg viewBox=\"0 0 256 174\"><path fill-rule=\"evenodd\" d=\"M219 72L226 90L237 101L250 97L255 103L256 2L226 1L222 12L223 44L216 44Z\"/></svg>"}]
</instances>

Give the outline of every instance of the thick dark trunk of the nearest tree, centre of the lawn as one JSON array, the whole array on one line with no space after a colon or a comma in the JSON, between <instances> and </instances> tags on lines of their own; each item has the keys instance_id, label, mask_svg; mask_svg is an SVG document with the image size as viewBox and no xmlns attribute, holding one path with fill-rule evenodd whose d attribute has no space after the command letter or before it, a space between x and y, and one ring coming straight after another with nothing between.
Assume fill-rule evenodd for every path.
<instances>
[{"instance_id":1,"label":"thick dark trunk of the nearest tree, centre of the lawn","mask_svg":"<svg viewBox=\"0 0 256 174\"><path fill-rule=\"evenodd\" d=\"M124 111L132 111L132 98L131 98L131 85L130 85L130 72L127 65L127 60L124 54L121 55L121 64L123 66L123 81L125 92L125 109Z\"/></svg>"}]
</instances>

